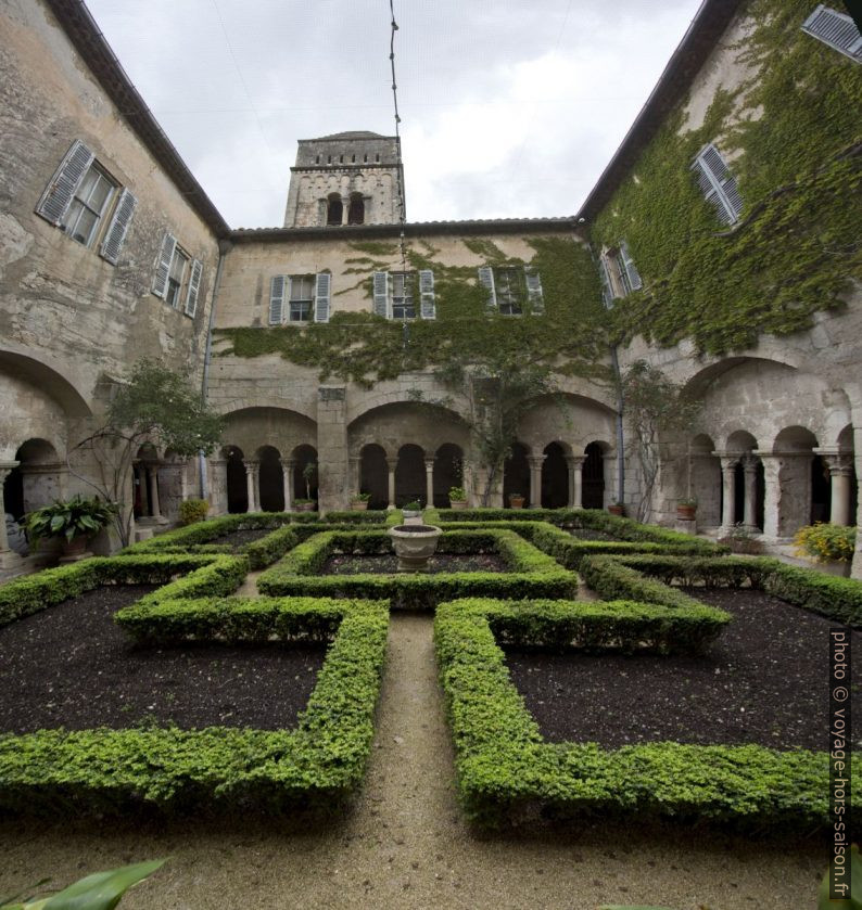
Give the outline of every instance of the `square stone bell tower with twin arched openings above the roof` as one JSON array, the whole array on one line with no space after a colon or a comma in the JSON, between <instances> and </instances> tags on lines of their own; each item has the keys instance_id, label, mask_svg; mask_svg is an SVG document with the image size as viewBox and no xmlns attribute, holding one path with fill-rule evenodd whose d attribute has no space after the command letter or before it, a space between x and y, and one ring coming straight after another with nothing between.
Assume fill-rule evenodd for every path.
<instances>
[{"instance_id":1,"label":"square stone bell tower with twin arched openings above the roof","mask_svg":"<svg viewBox=\"0 0 862 910\"><path fill-rule=\"evenodd\" d=\"M299 145L286 228L398 222L397 137L337 132Z\"/></svg>"}]
</instances>

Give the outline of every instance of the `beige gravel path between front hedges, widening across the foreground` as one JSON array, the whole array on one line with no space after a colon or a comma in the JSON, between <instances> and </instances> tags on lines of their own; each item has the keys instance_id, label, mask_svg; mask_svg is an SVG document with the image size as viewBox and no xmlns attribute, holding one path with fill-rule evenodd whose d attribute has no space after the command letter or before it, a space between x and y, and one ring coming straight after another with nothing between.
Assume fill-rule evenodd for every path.
<instances>
[{"instance_id":1,"label":"beige gravel path between front hedges, widening across the foreground","mask_svg":"<svg viewBox=\"0 0 862 910\"><path fill-rule=\"evenodd\" d=\"M431 618L394 614L368 777L353 813L325 832L252 825L74 832L0 825L0 895L50 875L172 857L125 910L566 908L660 903L676 910L814 906L825 850L579 829L571 836L479 838L455 800Z\"/></svg>"}]
</instances>

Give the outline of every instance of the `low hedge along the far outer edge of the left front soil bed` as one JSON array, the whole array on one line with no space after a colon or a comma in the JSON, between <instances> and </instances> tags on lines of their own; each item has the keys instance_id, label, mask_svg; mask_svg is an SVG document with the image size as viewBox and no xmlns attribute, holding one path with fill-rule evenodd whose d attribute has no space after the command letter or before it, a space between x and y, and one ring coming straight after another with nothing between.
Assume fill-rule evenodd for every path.
<instances>
[{"instance_id":1,"label":"low hedge along the far outer edge of the left front soil bed","mask_svg":"<svg viewBox=\"0 0 862 910\"><path fill-rule=\"evenodd\" d=\"M239 587L246 571L248 561L236 556L186 553L94 556L59 568L47 568L3 585L0 588L0 626L112 582L166 585L177 575L190 573L188 578L178 579L175 584L182 586L186 582L185 587L191 586L203 595L231 593ZM239 581L229 590L220 584L225 574L233 578L239 576Z\"/></svg>"}]
</instances>

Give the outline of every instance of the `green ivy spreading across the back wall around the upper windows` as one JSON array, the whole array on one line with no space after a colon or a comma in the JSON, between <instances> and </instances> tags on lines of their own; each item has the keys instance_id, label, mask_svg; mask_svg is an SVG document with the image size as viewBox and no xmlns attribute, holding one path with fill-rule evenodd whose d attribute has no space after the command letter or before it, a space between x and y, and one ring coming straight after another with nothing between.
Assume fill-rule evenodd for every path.
<instances>
[{"instance_id":1,"label":"green ivy spreading across the back wall around the upper windows","mask_svg":"<svg viewBox=\"0 0 862 910\"><path fill-rule=\"evenodd\" d=\"M524 265L521 259L507 258L490 240L462 242L494 265ZM219 354L278 354L317 369L324 381L335 377L366 387L428 367L486 359L490 351L553 363L563 374L604 375L607 312L588 249L566 236L535 236L528 243L534 251L530 265L542 279L544 315L487 312L476 267L446 265L431 243L418 241L406 251L407 266L433 270L435 320L411 320L405 329L402 322L375 316L369 305L368 312L335 312L329 323L301 329L217 330L216 335L228 342ZM356 283L347 290L370 300L372 273L392 269L398 247L373 242L351 246L363 255L345 260L345 271L356 275Z\"/></svg>"}]
</instances>

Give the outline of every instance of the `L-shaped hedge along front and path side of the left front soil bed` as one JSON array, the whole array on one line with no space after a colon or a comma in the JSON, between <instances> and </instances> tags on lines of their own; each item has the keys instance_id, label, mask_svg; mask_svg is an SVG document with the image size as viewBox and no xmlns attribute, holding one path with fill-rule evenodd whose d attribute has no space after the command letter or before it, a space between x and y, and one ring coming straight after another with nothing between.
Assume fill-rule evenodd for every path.
<instances>
[{"instance_id":1,"label":"L-shaped hedge along front and path side of the left front soil bed","mask_svg":"<svg viewBox=\"0 0 862 910\"><path fill-rule=\"evenodd\" d=\"M297 629L331 624L297 606ZM0 810L80 815L331 810L360 783L386 643L381 602L342 604L342 619L295 730L41 730L0 736ZM288 611L290 612L290 611ZM282 615L283 612L282 612ZM302 615L303 619L299 619ZM299 632L297 632L299 633Z\"/></svg>"}]
</instances>

